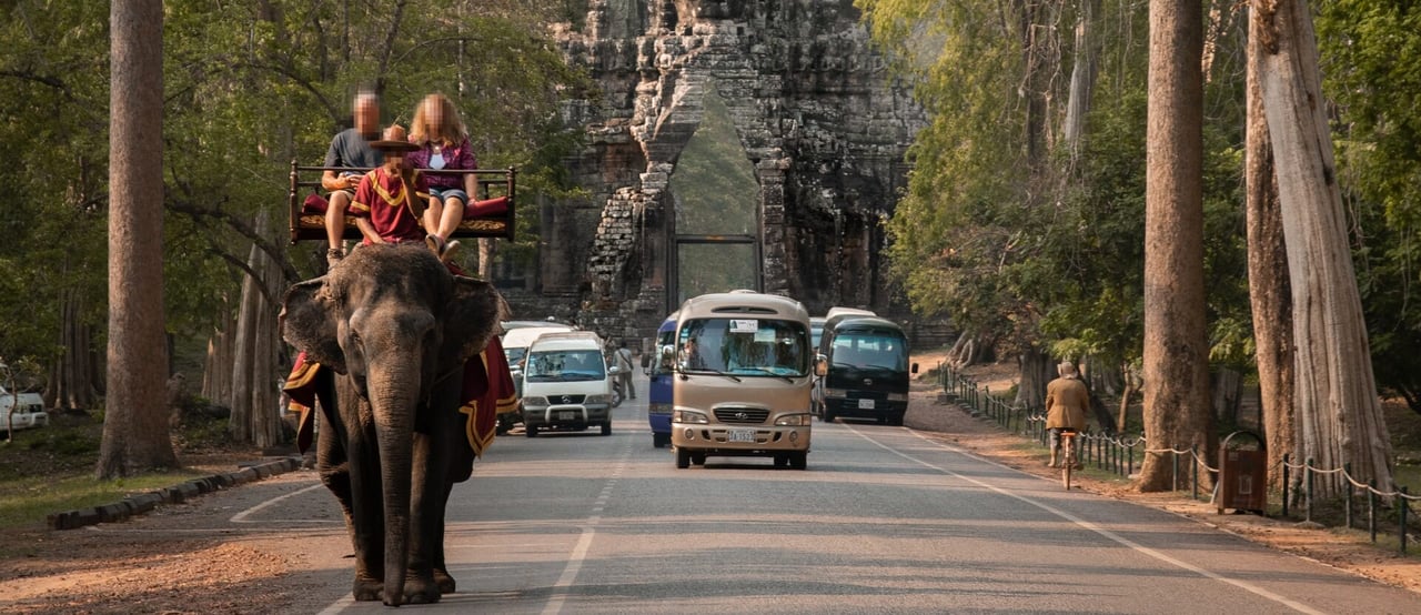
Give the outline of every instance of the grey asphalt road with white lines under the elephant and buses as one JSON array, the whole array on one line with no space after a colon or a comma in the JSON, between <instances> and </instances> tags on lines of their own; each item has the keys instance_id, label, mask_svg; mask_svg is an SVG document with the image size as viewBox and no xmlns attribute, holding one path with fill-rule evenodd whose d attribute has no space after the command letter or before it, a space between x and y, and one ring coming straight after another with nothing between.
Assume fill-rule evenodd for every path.
<instances>
[{"instance_id":1,"label":"grey asphalt road with white lines under the elephant and buses","mask_svg":"<svg viewBox=\"0 0 1421 615\"><path fill-rule=\"evenodd\" d=\"M1421 612L1415 594L905 428L816 423L807 470L745 457L676 470L651 445L645 398L614 416L611 436L500 437L449 507L459 591L405 609ZM213 523L304 528L313 612L384 611L348 598L350 543L314 473L239 491Z\"/></svg>"}]
</instances>

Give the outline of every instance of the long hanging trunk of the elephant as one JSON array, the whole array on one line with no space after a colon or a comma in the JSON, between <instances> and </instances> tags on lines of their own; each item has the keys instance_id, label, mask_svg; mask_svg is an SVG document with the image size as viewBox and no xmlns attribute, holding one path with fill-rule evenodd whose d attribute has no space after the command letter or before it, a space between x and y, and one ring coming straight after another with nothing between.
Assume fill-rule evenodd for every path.
<instances>
[{"instance_id":1,"label":"long hanging trunk of the elephant","mask_svg":"<svg viewBox=\"0 0 1421 615\"><path fill-rule=\"evenodd\" d=\"M385 604L398 606L405 599L405 570L409 562L411 457L415 405L419 403L419 369L395 369L395 374L382 374L381 379L394 383L381 395L371 395L385 501L384 588Z\"/></svg>"}]
</instances>

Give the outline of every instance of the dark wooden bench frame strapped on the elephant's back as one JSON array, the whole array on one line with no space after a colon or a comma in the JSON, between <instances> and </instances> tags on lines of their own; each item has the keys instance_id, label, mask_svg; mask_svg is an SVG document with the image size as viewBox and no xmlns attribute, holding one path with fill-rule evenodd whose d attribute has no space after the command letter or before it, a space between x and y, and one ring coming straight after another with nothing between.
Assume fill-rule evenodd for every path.
<instances>
[{"instance_id":1,"label":"dark wooden bench frame strapped on the elephant's back","mask_svg":"<svg viewBox=\"0 0 1421 615\"><path fill-rule=\"evenodd\" d=\"M321 187L321 176L327 170L352 172L364 175L369 169L348 168L348 166L301 166L297 160L291 160L291 185L287 192L287 209L290 210L290 230L291 230L291 244L303 239L325 239L325 214L324 213L304 213L301 207L306 202L304 190L310 187L310 193L327 196L327 192ZM311 178L314 172L314 179ZM462 170L435 170L435 169L419 169L421 173L428 175L473 175L479 182L477 195L469 195L475 202L489 200L497 197L507 197L507 210L497 216L475 216L465 217L459 224L459 229L453 232L452 237L503 237L513 239L514 232L514 213L516 213L516 199L514 192L517 187L517 168L507 169L462 169ZM362 239L360 227L355 226L354 217L345 217L345 232L342 233L345 239Z\"/></svg>"}]
</instances>

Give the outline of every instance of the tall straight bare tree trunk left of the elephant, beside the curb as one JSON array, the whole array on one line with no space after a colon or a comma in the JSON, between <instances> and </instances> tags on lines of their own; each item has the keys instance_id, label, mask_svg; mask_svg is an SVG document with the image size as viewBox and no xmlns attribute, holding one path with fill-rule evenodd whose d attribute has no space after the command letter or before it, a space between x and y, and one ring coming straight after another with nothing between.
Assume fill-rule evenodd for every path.
<instances>
[{"instance_id":1,"label":"tall straight bare tree trunk left of the elephant, beside the curb","mask_svg":"<svg viewBox=\"0 0 1421 615\"><path fill-rule=\"evenodd\" d=\"M163 327L163 4L109 7L108 393L98 479L176 467Z\"/></svg>"}]
</instances>

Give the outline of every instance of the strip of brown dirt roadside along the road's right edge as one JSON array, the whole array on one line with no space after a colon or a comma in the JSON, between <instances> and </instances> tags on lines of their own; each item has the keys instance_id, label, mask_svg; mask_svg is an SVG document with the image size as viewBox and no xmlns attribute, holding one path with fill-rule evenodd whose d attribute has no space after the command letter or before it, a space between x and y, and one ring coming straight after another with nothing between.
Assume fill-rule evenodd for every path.
<instances>
[{"instance_id":1,"label":"strip of brown dirt roadside along the road's right edge","mask_svg":"<svg viewBox=\"0 0 1421 615\"><path fill-rule=\"evenodd\" d=\"M936 362L931 357L915 357L915 361L926 368ZM992 391L1006 391L1012 385L1010 369L986 368L973 376L990 386ZM1059 470L1046 467L1047 455L1043 449L1023 446L1026 442L1020 436L1002 432L990 420L975 419L958 405L938 403L936 393L938 389L929 383L914 383L904 425L926 432L931 437L972 455L1040 476L1044 480L1060 480ZM1073 483L1090 493L1165 510L1253 543L1387 585L1421 592L1421 560L1405 558L1395 551L1374 547L1361 531L1323 530L1256 514L1218 514L1218 510L1206 499L1195 501L1188 494L1138 493L1125 484L1096 480L1090 476L1079 476Z\"/></svg>"}]
</instances>

